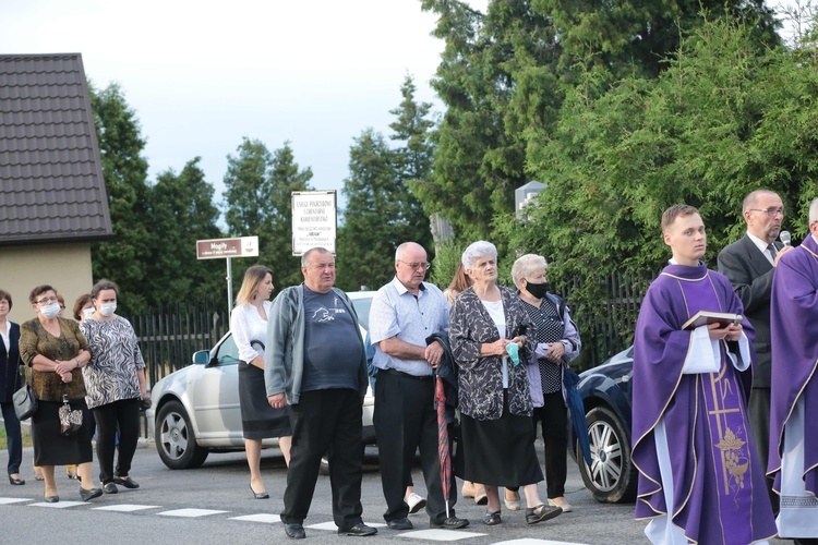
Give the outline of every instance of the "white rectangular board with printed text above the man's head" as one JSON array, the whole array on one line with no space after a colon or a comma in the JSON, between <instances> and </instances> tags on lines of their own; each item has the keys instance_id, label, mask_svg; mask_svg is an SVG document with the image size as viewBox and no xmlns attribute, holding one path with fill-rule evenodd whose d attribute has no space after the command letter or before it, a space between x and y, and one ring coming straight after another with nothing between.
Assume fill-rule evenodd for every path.
<instances>
[{"instance_id":1,"label":"white rectangular board with printed text above the man's head","mask_svg":"<svg viewBox=\"0 0 818 545\"><path fill-rule=\"evenodd\" d=\"M336 210L335 190L292 192L292 255L316 246L335 254Z\"/></svg>"}]
</instances>

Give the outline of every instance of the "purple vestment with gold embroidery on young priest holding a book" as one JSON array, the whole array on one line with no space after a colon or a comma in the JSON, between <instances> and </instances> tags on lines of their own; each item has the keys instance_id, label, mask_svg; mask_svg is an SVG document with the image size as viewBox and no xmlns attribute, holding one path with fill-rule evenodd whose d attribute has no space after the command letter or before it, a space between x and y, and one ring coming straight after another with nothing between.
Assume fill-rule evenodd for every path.
<instances>
[{"instance_id":1,"label":"purple vestment with gold embroidery on young priest holding a book","mask_svg":"<svg viewBox=\"0 0 818 545\"><path fill-rule=\"evenodd\" d=\"M666 525L670 514L673 543L765 541L777 530L747 421L750 370L739 373L731 358L741 355L727 355L727 350L738 354L738 342L713 343L706 331L699 334L719 372L685 367L694 359L694 334L682 325L700 310L744 312L730 281L703 264L665 267L639 311L633 378L633 407L639 408L633 414L636 518ZM743 327L749 359L755 331L746 320Z\"/></svg>"}]
</instances>

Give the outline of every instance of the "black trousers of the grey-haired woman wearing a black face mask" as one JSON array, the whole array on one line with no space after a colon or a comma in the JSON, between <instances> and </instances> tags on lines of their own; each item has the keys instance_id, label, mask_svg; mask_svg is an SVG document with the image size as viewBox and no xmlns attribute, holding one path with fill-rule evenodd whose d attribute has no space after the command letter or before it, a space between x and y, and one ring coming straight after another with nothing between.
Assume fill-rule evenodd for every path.
<instances>
[{"instance_id":1,"label":"black trousers of the grey-haired woman wearing a black face mask","mask_svg":"<svg viewBox=\"0 0 818 545\"><path fill-rule=\"evenodd\" d=\"M565 407L562 391L545 393L543 399L545 404L534 408L534 436L537 421L540 421L545 444L545 486L549 498L558 498L565 496L568 474L568 408Z\"/></svg>"}]
</instances>

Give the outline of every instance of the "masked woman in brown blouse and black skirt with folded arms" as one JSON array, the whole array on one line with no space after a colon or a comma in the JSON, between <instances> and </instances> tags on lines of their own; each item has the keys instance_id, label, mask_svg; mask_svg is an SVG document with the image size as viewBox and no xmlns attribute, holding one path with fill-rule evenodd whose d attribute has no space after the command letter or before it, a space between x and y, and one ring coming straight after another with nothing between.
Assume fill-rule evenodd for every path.
<instances>
[{"instance_id":1,"label":"masked woman in brown blouse and black skirt with folded arms","mask_svg":"<svg viewBox=\"0 0 818 545\"><path fill-rule=\"evenodd\" d=\"M33 367L37 412L32 416L34 464L43 469L46 501L57 502L53 467L79 465L80 497L87 501L103 495L91 476L92 424L85 404L85 383L80 371L88 364L88 342L74 320L59 318L60 304L50 286L38 286L28 296L37 317L20 326L20 356ZM60 429L59 410L68 395L72 410L83 413L82 427L64 436Z\"/></svg>"}]
</instances>

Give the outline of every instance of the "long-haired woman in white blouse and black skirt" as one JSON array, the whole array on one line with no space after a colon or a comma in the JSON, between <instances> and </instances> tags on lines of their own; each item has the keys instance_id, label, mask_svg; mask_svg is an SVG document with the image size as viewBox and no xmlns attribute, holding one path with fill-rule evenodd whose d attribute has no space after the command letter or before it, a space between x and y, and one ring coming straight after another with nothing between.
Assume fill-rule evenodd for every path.
<instances>
[{"instance_id":1,"label":"long-haired woman in white blouse and black skirt","mask_svg":"<svg viewBox=\"0 0 818 545\"><path fill-rule=\"evenodd\" d=\"M290 463L290 417L286 408L274 409L267 402L264 385L264 344L267 316L273 303L273 274L263 265L244 272L244 281L230 314L230 330L239 349L239 401L244 450L250 465L250 489L256 499L269 497L261 473L262 439L278 437L287 465Z\"/></svg>"}]
</instances>

